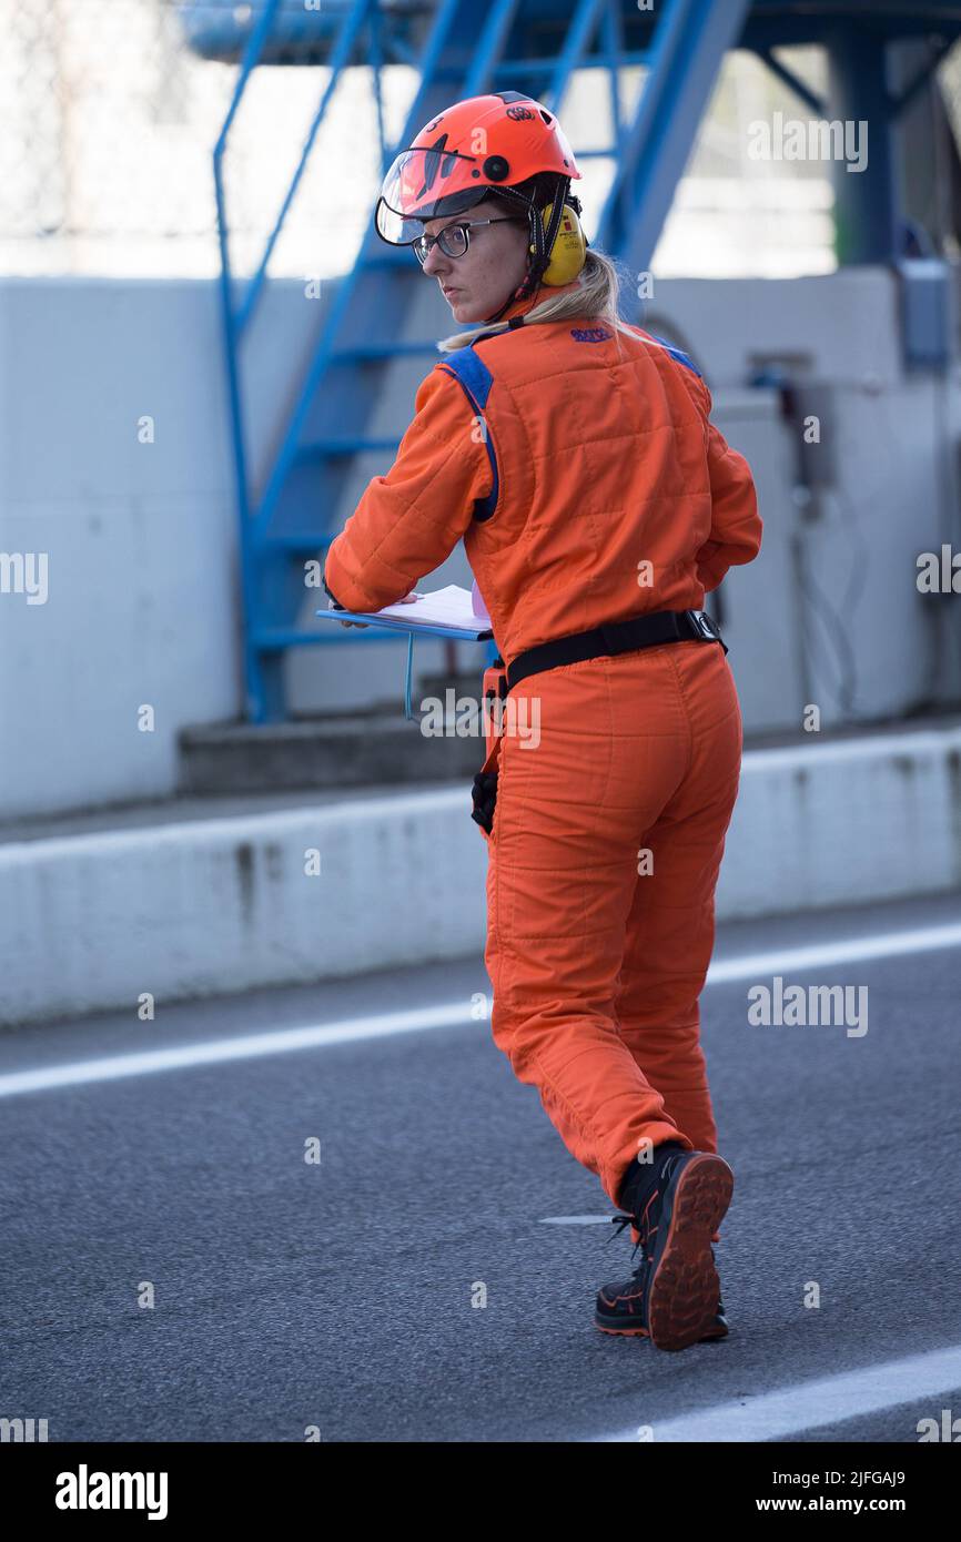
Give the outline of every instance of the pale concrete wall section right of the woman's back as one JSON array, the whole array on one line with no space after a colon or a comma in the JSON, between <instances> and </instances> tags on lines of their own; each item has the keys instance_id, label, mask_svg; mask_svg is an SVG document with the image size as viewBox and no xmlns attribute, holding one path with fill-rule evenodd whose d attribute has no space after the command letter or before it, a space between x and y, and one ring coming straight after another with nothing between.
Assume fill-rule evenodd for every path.
<instances>
[{"instance_id":1,"label":"pale concrete wall section right of the woman's back","mask_svg":"<svg viewBox=\"0 0 961 1542\"><path fill-rule=\"evenodd\" d=\"M751 466L770 453L771 441L733 421L733 413L744 418L744 402L731 401L733 413L728 402L757 370L784 370L797 390L801 416L816 415L821 424L821 443L802 452L814 478L813 501L802 510L793 500L801 433L790 429L787 481L774 503L768 497L760 504L762 558L723 584L736 628L733 665L734 637L739 645L739 685L753 617L765 617L767 635L774 604L782 629L793 632L796 677L781 675L782 685L790 691L794 678L801 682L801 703L821 708L822 726L955 702L958 600L921 595L916 560L939 552L942 543L961 549L961 381L956 361L947 375L905 369L896 274L841 268L791 281L674 279L657 285L646 325L657 332L662 319L690 339L714 392L714 421ZM790 586L770 594L773 535L782 575L782 544L797 537L804 574L793 569ZM810 592L799 600L802 580ZM770 674L760 657L751 660L754 668ZM751 678L748 694L756 689Z\"/></svg>"}]
</instances>

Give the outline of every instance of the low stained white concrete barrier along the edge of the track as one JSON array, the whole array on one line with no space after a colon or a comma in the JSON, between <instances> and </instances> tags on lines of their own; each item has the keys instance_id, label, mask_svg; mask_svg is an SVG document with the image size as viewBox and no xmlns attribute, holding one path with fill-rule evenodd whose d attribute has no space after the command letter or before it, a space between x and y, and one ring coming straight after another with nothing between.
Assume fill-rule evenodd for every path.
<instances>
[{"instance_id":1,"label":"low stained white concrete barrier along the edge of the track","mask_svg":"<svg viewBox=\"0 0 961 1542\"><path fill-rule=\"evenodd\" d=\"M481 953L469 785L0 847L0 1021ZM961 726L744 757L719 919L961 887Z\"/></svg>"}]
</instances>

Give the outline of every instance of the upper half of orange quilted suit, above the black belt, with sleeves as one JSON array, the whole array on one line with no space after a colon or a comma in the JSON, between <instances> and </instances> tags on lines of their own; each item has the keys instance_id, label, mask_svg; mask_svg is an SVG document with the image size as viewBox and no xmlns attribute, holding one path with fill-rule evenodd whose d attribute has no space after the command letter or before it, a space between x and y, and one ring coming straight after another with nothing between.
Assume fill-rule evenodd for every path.
<instances>
[{"instance_id":1,"label":"upper half of orange quilted suit, above the black belt, with sleeves","mask_svg":"<svg viewBox=\"0 0 961 1542\"><path fill-rule=\"evenodd\" d=\"M700 608L757 554L762 523L685 358L591 318L441 359L395 464L329 549L330 589L349 609L390 604L463 538L507 663L602 621Z\"/></svg>"}]
</instances>

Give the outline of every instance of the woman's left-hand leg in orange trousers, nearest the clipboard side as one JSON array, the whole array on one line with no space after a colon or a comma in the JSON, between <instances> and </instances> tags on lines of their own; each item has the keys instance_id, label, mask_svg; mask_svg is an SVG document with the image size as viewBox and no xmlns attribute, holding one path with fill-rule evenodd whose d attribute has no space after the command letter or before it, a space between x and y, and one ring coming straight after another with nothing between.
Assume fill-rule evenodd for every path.
<instances>
[{"instance_id":1,"label":"woman's left-hand leg in orange trousers, nearest the clipboard side","mask_svg":"<svg viewBox=\"0 0 961 1542\"><path fill-rule=\"evenodd\" d=\"M517 692L540 705L540 742L504 736L489 842L494 1041L614 1204L646 1141L693 1146L625 1042L614 1005L640 834L690 762L671 651L521 682Z\"/></svg>"}]
</instances>

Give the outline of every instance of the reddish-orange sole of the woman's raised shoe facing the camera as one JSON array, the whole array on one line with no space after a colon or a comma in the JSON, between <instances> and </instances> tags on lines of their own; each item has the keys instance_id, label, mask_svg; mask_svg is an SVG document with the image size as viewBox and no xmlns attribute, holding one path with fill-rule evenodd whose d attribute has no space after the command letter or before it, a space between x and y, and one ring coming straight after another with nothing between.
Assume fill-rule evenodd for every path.
<instances>
[{"instance_id":1,"label":"reddish-orange sole of the woman's raised shoe facing the camera","mask_svg":"<svg viewBox=\"0 0 961 1542\"><path fill-rule=\"evenodd\" d=\"M682 1170L669 1200L666 1235L654 1249L648 1289L648 1337L657 1349L686 1349L711 1334L720 1281L711 1237L734 1192L734 1173L723 1156L699 1153Z\"/></svg>"}]
</instances>

